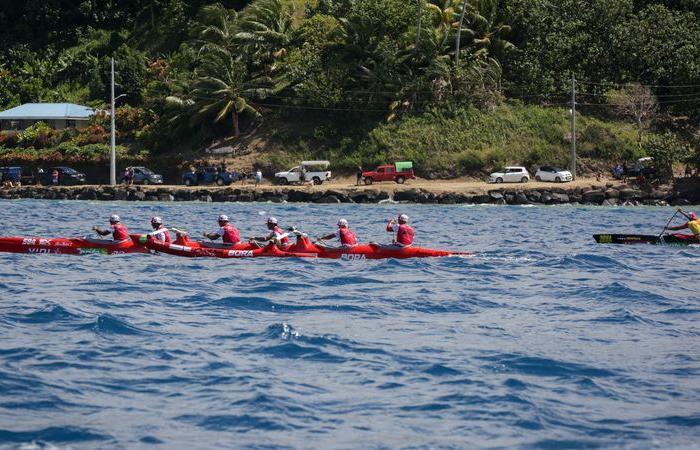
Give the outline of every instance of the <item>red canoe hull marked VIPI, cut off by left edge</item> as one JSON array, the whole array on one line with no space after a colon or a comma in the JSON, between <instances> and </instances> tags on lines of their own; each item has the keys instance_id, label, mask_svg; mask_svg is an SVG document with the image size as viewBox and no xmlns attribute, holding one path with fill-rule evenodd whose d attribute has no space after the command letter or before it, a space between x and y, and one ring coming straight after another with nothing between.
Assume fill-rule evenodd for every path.
<instances>
[{"instance_id":1,"label":"red canoe hull marked VIPI, cut off by left edge","mask_svg":"<svg viewBox=\"0 0 700 450\"><path fill-rule=\"evenodd\" d=\"M131 234L129 237L129 239L118 242L111 239L92 239L89 237L0 237L0 252L54 253L62 255L148 253L148 249L145 246L145 235Z\"/></svg>"}]
</instances>

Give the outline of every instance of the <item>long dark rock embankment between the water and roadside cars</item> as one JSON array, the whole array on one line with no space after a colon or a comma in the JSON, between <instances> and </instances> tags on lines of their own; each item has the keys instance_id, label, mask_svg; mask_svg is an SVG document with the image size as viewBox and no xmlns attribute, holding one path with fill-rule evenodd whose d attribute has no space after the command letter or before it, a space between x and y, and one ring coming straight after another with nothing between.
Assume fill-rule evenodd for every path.
<instances>
[{"instance_id":1,"label":"long dark rock embankment between the water and roadside cars","mask_svg":"<svg viewBox=\"0 0 700 450\"><path fill-rule=\"evenodd\" d=\"M0 189L0 199L104 200L104 201L202 201L202 202L307 202L307 203L380 203L421 204L497 204L497 205L688 205L697 202L697 190L664 187L640 190L612 184L587 188L510 188L498 187L481 193L431 192L407 188L387 192L378 188L178 188L141 186L22 186Z\"/></svg>"}]
</instances>

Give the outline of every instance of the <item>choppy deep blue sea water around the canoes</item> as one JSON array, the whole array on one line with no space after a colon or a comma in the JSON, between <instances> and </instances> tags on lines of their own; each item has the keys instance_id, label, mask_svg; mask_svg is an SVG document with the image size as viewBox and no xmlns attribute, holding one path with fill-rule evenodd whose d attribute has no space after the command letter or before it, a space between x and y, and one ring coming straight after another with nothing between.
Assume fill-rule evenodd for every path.
<instances>
[{"instance_id":1,"label":"choppy deep blue sea water around the canoes","mask_svg":"<svg viewBox=\"0 0 700 450\"><path fill-rule=\"evenodd\" d=\"M0 447L698 448L700 249L597 245L671 208L1 201L0 235L117 213L340 217L471 257L0 254ZM677 222L679 223L679 222Z\"/></svg>"}]
</instances>

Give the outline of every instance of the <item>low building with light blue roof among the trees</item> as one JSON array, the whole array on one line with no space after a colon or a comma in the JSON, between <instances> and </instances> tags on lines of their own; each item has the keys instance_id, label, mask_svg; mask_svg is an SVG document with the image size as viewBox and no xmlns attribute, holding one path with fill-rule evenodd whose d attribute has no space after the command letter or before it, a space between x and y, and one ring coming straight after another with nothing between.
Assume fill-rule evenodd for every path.
<instances>
[{"instance_id":1,"label":"low building with light blue roof among the trees","mask_svg":"<svg viewBox=\"0 0 700 450\"><path fill-rule=\"evenodd\" d=\"M0 112L0 131L24 130L37 122L51 128L84 128L95 110L75 103L25 103Z\"/></svg>"}]
</instances>

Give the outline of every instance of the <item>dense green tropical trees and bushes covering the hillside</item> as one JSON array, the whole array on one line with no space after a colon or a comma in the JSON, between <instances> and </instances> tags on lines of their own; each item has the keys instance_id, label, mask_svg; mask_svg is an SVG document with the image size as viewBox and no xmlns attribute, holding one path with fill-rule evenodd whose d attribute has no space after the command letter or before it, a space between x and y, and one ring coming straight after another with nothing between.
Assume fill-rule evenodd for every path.
<instances>
[{"instance_id":1,"label":"dense green tropical trees and bushes covering the hillside","mask_svg":"<svg viewBox=\"0 0 700 450\"><path fill-rule=\"evenodd\" d=\"M566 165L575 89L584 158L672 142L672 162L700 161L693 1L18 0L0 42L0 109L106 108L113 57L119 143L153 157L226 143L267 166ZM104 118L47 128L0 133L0 156L106 148Z\"/></svg>"}]
</instances>

